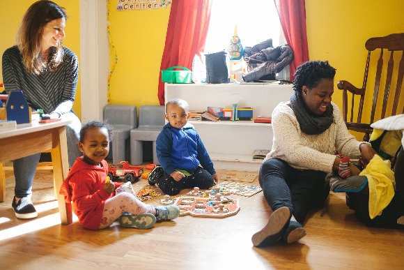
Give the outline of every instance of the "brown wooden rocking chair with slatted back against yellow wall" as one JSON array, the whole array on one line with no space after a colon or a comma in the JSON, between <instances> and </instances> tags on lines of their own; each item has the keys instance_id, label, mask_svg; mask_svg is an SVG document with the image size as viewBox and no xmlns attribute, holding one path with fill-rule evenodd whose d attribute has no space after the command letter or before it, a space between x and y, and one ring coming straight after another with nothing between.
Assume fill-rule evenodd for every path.
<instances>
[{"instance_id":1,"label":"brown wooden rocking chair with slatted back against yellow wall","mask_svg":"<svg viewBox=\"0 0 404 270\"><path fill-rule=\"evenodd\" d=\"M404 75L404 33L393 33L389 36L380 38L369 38L365 43L366 50L368 50L368 57L366 59L364 82L362 88L353 86L350 82L341 80L338 82L337 87L343 90L343 119L348 127L348 130L354 130L360 133L365 133L364 141L368 141L370 134L373 131L371 123L384 119L392 115L404 114L404 98L400 96L401 87L403 86ZM372 66L371 52L379 52L375 54L378 56L376 66ZM384 52L387 57L384 57ZM397 59L399 61L397 61ZM369 123L362 123L363 109L370 106L364 105L366 87L373 84L373 80L368 80L369 70L375 68L375 80L373 87L373 103L371 107L371 117ZM387 68L387 70L386 70ZM373 74L373 73L371 73ZM371 91L371 85L368 91ZM383 87L384 86L384 87ZM390 87L395 87L395 91L390 91ZM352 93L350 99L350 120L348 121L348 91ZM353 116L355 96L359 96L359 107L357 111L357 121L354 122ZM377 107L378 99L382 99L382 107ZM366 110L368 111L368 110Z\"/></svg>"}]
</instances>

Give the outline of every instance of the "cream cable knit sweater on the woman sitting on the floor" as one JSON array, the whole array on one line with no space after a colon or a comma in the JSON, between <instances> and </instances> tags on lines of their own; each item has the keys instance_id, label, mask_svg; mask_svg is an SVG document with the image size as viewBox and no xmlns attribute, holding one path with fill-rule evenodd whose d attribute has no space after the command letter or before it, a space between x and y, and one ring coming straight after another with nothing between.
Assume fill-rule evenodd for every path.
<instances>
[{"instance_id":1,"label":"cream cable knit sweater on the woman sitting on the floor","mask_svg":"<svg viewBox=\"0 0 404 270\"><path fill-rule=\"evenodd\" d=\"M272 112L274 137L272 150L265 160L279 158L296 169L332 172L335 149L343 156L359 158L361 142L348 132L341 112L334 103L335 123L318 135L307 135L300 130L295 113L288 104L289 101L279 103Z\"/></svg>"}]
</instances>

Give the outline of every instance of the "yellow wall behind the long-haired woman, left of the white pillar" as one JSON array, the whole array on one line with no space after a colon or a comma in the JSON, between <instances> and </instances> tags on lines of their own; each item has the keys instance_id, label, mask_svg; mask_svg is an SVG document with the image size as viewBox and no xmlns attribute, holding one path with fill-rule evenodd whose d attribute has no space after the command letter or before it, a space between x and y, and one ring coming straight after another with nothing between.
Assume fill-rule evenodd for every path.
<instances>
[{"instance_id":1,"label":"yellow wall behind the long-haired woman, left of the white pillar","mask_svg":"<svg viewBox=\"0 0 404 270\"><path fill-rule=\"evenodd\" d=\"M1 0L0 1L0 55L13 45L15 45L15 33L20 25L22 16L31 6L34 0ZM54 0L59 6L66 8L68 12L68 20L66 21L63 45L77 54L80 59L80 10L79 0ZM1 63L0 63L1 67ZM0 82L3 82L3 75L0 73ZM77 84L76 99L73 110L77 117L81 117L81 94L80 94L80 77Z\"/></svg>"}]
</instances>

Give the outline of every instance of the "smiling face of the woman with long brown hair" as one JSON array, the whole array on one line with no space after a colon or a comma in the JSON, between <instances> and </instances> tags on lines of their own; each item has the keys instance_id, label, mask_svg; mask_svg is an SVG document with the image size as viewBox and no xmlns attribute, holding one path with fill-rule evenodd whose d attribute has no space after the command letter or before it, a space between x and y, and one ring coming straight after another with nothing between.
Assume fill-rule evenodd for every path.
<instances>
[{"instance_id":1,"label":"smiling face of the woman with long brown hair","mask_svg":"<svg viewBox=\"0 0 404 270\"><path fill-rule=\"evenodd\" d=\"M40 51L45 53L50 47L58 47L62 38L65 37L66 20L64 17L52 20L45 24L42 29L42 37L40 39Z\"/></svg>"}]
</instances>

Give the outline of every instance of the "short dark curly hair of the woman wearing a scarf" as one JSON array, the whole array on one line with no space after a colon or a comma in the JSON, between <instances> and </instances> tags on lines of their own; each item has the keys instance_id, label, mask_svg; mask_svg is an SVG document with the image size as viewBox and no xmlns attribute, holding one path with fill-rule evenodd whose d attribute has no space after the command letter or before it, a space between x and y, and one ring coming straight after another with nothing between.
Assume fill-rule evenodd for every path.
<instances>
[{"instance_id":1,"label":"short dark curly hair of the woman wearing a scarf","mask_svg":"<svg viewBox=\"0 0 404 270\"><path fill-rule=\"evenodd\" d=\"M308 61L298 66L293 80L293 89L302 93L302 87L316 87L321 79L333 79L336 69L329 66L328 61Z\"/></svg>"}]
</instances>

